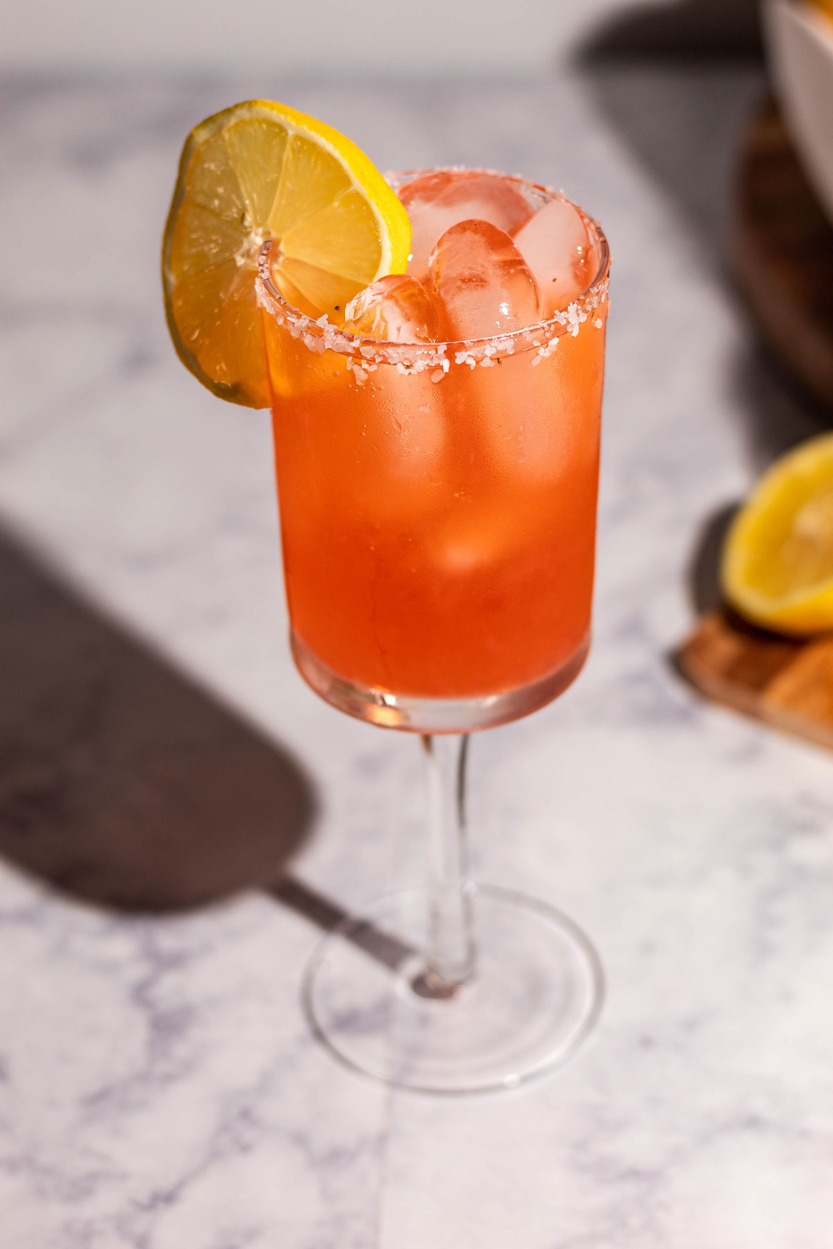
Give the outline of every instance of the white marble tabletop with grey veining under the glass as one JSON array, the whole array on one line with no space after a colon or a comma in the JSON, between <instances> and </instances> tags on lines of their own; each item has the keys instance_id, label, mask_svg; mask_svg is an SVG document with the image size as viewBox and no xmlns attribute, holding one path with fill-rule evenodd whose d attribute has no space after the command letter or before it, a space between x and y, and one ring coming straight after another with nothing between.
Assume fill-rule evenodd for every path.
<instances>
[{"instance_id":1,"label":"white marble tabletop with grey veining under the glass","mask_svg":"<svg viewBox=\"0 0 833 1249\"><path fill-rule=\"evenodd\" d=\"M516 1093L390 1095L332 1063L297 999L316 926L265 891L136 913L76 896L95 894L95 863L70 862L60 892L49 846L37 858L39 838L64 837L71 859L66 839L101 812L114 844L154 843L167 799L144 784L169 786L171 828L200 799L176 753L170 774L164 748L150 779L132 768L144 738L114 762L135 661L132 698L167 673L147 712L162 742L177 683L196 682L189 724L226 717L246 757L251 738L297 761L317 814L296 883L350 907L418 872L413 742L340 717L292 671L266 415L202 391L161 316L182 135L255 90L338 124L382 167L483 162L563 185L611 237L594 649L561 703L476 741L471 803L480 874L574 916L609 994L581 1057ZM40 585L46 560L65 581L50 593L75 623L46 636L44 671L77 634L86 657L61 679L95 693L84 759L111 784L75 811L76 761L65 801L39 739L64 712L29 682L29 753L0 733L2 1249L829 1249L833 761L704 706L668 662L703 526L813 428L757 358L718 259L758 91L732 66L6 82L2 550L16 533L26 576ZM87 628L111 638L109 668ZM4 637L22 653L41 634L22 612ZM242 879L266 884L252 844Z\"/></svg>"}]
</instances>

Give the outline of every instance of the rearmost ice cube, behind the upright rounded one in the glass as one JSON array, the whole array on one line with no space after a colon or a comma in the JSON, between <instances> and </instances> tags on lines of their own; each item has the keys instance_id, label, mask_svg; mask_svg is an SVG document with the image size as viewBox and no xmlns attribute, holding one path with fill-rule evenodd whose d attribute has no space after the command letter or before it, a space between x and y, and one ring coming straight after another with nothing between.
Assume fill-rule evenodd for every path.
<instances>
[{"instance_id":1,"label":"rearmost ice cube, behind the upright rounded one in the glass","mask_svg":"<svg viewBox=\"0 0 833 1249\"><path fill-rule=\"evenodd\" d=\"M427 279L428 260L440 235L450 226L476 219L511 235L532 216L526 196L498 174L442 170L415 177L398 195L413 231L408 272L421 282Z\"/></svg>"}]
</instances>

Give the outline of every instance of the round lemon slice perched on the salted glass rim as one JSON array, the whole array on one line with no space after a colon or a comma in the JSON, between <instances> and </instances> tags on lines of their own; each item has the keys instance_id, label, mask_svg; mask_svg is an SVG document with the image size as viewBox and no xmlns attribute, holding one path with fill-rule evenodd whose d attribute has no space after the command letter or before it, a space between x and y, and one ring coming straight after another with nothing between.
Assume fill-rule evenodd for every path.
<instances>
[{"instance_id":1,"label":"round lemon slice perched on the salted glass rim","mask_svg":"<svg viewBox=\"0 0 833 1249\"><path fill-rule=\"evenodd\" d=\"M269 407L257 254L302 312L338 323L377 277L405 272L411 224L396 192L350 139L270 100L207 117L189 135L162 242L174 346L215 395Z\"/></svg>"}]
</instances>

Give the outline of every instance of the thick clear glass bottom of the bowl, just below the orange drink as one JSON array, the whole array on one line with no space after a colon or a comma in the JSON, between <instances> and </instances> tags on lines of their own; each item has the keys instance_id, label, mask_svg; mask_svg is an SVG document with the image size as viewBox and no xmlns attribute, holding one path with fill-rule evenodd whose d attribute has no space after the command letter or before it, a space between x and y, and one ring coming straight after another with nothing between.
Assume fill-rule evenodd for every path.
<instances>
[{"instance_id":1,"label":"thick clear glass bottom of the bowl, just below the orange drink","mask_svg":"<svg viewBox=\"0 0 833 1249\"><path fill-rule=\"evenodd\" d=\"M340 677L297 634L290 634L290 643L295 664L306 683L347 716L412 733L472 733L528 716L562 694L584 666L589 634L561 668L540 681L503 693L472 698L418 698L413 694L387 693Z\"/></svg>"}]
</instances>

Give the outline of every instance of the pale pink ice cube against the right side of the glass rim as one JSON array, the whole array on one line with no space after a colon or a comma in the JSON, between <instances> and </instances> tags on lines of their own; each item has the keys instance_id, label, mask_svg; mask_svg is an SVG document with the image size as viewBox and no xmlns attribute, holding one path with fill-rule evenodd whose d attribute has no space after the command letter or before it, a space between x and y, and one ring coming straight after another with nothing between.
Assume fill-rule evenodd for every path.
<instances>
[{"instance_id":1,"label":"pale pink ice cube against the right side of the glass rim","mask_svg":"<svg viewBox=\"0 0 833 1249\"><path fill-rule=\"evenodd\" d=\"M568 200L545 204L513 237L535 274L543 317L566 309L592 282L596 266L589 232Z\"/></svg>"}]
</instances>

